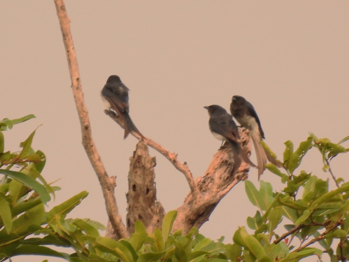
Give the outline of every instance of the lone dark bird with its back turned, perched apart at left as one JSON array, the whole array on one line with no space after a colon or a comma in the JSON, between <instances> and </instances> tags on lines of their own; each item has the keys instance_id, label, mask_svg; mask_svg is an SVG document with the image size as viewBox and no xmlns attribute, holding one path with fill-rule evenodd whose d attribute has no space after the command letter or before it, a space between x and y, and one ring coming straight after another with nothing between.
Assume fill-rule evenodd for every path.
<instances>
[{"instance_id":1,"label":"lone dark bird with its back turned, perched apart at left","mask_svg":"<svg viewBox=\"0 0 349 262\"><path fill-rule=\"evenodd\" d=\"M107 110L113 108L124 123L124 139L130 132L136 132L144 137L133 124L129 116L128 88L121 82L117 75L111 75L104 85L101 96Z\"/></svg>"}]
</instances>

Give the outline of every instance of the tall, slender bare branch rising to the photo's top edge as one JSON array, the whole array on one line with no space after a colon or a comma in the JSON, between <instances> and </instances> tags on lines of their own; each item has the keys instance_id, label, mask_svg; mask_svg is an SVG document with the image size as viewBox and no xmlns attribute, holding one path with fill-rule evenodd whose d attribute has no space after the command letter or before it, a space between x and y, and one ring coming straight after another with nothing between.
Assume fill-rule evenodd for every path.
<instances>
[{"instance_id":1,"label":"tall, slender bare branch rising to the photo's top edge","mask_svg":"<svg viewBox=\"0 0 349 262\"><path fill-rule=\"evenodd\" d=\"M99 156L96 145L92 139L91 126L88 117L88 111L83 99L82 87L80 82L79 67L77 66L76 54L72 34L70 32L70 20L67 16L66 8L63 0L54 0L57 16L62 32L63 43L66 50L67 61L70 79L72 81L72 91L76 104L77 113L80 119L82 144L88 155L92 167L98 177L102 187L102 192L105 200L105 206L108 218L111 222L113 230L118 238L128 238L129 234L124 223L121 221L121 216L118 211L116 199L114 196L115 185L111 182L103 166L101 157Z\"/></svg>"}]
</instances>

